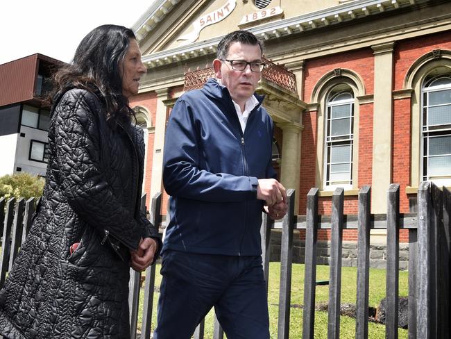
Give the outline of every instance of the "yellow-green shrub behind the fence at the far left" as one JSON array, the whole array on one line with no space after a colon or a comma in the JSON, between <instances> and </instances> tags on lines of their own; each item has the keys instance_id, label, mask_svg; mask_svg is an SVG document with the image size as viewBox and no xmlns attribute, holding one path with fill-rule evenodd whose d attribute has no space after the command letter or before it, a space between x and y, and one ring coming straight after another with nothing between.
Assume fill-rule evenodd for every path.
<instances>
[{"instance_id":1,"label":"yellow-green shrub behind the fence at the far left","mask_svg":"<svg viewBox=\"0 0 451 339\"><path fill-rule=\"evenodd\" d=\"M0 177L0 198L40 197L44 189L44 179L28 173L17 173Z\"/></svg>"}]
</instances>

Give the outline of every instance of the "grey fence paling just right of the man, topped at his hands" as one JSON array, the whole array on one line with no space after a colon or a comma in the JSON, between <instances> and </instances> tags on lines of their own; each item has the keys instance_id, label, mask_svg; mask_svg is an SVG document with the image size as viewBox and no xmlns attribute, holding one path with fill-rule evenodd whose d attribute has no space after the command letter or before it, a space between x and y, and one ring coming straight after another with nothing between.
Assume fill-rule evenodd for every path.
<instances>
[{"instance_id":1,"label":"grey fence paling just right of the man, topped at his hands","mask_svg":"<svg viewBox=\"0 0 451 339\"><path fill-rule=\"evenodd\" d=\"M287 190L288 212L282 220L280 249L280 291L278 339L288 339L291 300L291 260L293 257L294 190Z\"/></svg>"}]
</instances>

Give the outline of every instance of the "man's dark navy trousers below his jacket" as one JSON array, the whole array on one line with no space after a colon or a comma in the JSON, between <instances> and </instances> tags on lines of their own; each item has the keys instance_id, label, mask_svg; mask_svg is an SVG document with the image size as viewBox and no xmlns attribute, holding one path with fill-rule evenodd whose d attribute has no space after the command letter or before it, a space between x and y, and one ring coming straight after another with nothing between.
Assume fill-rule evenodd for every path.
<instances>
[{"instance_id":1,"label":"man's dark navy trousers below his jacket","mask_svg":"<svg viewBox=\"0 0 451 339\"><path fill-rule=\"evenodd\" d=\"M165 251L154 339L189 339L214 306L228 339L269 339L261 256Z\"/></svg>"}]
</instances>

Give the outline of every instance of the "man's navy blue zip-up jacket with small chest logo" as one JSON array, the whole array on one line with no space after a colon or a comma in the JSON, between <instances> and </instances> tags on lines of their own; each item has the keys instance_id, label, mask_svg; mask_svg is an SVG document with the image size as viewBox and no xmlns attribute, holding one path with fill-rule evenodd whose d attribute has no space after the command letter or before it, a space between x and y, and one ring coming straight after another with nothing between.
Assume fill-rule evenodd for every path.
<instances>
[{"instance_id":1,"label":"man's navy blue zip-up jacket with small chest logo","mask_svg":"<svg viewBox=\"0 0 451 339\"><path fill-rule=\"evenodd\" d=\"M244 133L224 86L210 79L183 94L169 117L164 145L164 188L170 222L164 251L256 256L262 253L262 200L257 179L275 178L273 122L252 110Z\"/></svg>"}]
</instances>

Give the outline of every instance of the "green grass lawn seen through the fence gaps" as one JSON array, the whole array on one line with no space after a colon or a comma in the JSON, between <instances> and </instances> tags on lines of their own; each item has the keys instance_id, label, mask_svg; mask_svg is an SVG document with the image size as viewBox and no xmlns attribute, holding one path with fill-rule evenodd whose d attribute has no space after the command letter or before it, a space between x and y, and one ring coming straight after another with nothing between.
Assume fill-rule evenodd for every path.
<instances>
[{"instance_id":1,"label":"green grass lawn seen through the fence gaps","mask_svg":"<svg viewBox=\"0 0 451 339\"><path fill-rule=\"evenodd\" d=\"M385 278L386 270L370 269L370 297L369 306L376 307L380 300L385 297ZM316 270L316 280L329 279L329 266L318 265ZM399 275L399 295L407 296L407 279L408 272L400 271ZM155 274L155 286L160 286L160 265L157 266L157 274ZM271 338L277 338L278 329L278 298L280 283L280 263L270 263L269 267L269 318ZM357 269L356 267L343 267L341 271L341 303L355 304L357 295ZM153 319L152 331L156 324L156 308L159 293L155 292L153 299ZM316 286L316 304L327 302L329 297L329 286ZM291 305L304 304L304 265L293 264L293 272L291 275ZM142 317L142 307L144 304L144 289L139 297L139 319ZM213 311L207 315L205 319L205 339L213 338ZM290 313L290 333L289 338L302 338L303 328L303 310L302 308L291 308ZM138 324L140 329L141 325ZM399 329L398 336L400 339L407 339L407 330ZM327 338L327 312L315 312L315 338ZM340 318L340 338L355 338L355 319L352 317L341 316ZM384 339L385 326L369 322L368 338Z\"/></svg>"}]
</instances>

